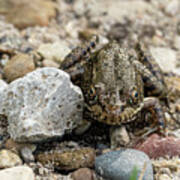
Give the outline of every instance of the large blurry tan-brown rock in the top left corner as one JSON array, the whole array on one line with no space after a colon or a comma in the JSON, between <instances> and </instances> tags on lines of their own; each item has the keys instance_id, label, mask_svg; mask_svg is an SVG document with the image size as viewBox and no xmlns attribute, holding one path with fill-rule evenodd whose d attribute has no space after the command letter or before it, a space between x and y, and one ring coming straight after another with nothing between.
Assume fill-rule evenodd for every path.
<instances>
[{"instance_id":1,"label":"large blurry tan-brown rock in the top left corner","mask_svg":"<svg viewBox=\"0 0 180 180\"><path fill-rule=\"evenodd\" d=\"M18 28L46 26L55 17L55 4L44 0L0 0L0 14Z\"/></svg>"}]
</instances>

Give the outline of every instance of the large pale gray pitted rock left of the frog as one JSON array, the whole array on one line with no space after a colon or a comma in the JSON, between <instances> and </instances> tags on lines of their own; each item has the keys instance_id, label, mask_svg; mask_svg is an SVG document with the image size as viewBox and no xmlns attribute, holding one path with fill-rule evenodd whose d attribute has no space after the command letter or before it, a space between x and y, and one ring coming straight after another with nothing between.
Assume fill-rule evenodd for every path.
<instances>
[{"instance_id":1,"label":"large pale gray pitted rock left of the frog","mask_svg":"<svg viewBox=\"0 0 180 180\"><path fill-rule=\"evenodd\" d=\"M8 117L8 132L15 141L61 137L82 120L82 92L56 68L33 71L0 95L0 113Z\"/></svg>"}]
</instances>

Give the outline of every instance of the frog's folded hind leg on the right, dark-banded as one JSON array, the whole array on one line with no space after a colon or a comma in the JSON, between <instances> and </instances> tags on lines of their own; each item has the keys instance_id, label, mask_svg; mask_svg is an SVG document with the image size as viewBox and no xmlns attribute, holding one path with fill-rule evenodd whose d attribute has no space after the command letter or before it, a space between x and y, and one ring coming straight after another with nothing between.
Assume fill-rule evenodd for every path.
<instances>
[{"instance_id":1,"label":"frog's folded hind leg on the right, dark-banded","mask_svg":"<svg viewBox=\"0 0 180 180\"><path fill-rule=\"evenodd\" d=\"M142 75L147 95L159 97L166 96L166 84L164 82L163 73L159 65L152 56L143 51L139 43L136 44L135 50L139 60L139 63L136 62L137 70Z\"/></svg>"}]
</instances>

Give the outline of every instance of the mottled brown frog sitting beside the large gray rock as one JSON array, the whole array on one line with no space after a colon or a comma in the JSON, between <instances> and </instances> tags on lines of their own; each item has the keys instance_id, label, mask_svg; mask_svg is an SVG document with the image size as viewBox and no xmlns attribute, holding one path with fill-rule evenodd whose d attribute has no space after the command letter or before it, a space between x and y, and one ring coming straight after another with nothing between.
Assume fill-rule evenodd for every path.
<instances>
[{"instance_id":1,"label":"mottled brown frog sitting beside the large gray rock","mask_svg":"<svg viewBox=\"0 0 180 180\"><path fill-rule=\"evenodd\" d=\"M84 118L121 125L149 110L163 127L164 113L158 97L166 96L166 85L152 57L144 54L140 44L135 47L138 58L132 57L116 42L90 55L90 44L86 49L76 48L61 65L83 91Z\"/></svg>"}]
</instances>

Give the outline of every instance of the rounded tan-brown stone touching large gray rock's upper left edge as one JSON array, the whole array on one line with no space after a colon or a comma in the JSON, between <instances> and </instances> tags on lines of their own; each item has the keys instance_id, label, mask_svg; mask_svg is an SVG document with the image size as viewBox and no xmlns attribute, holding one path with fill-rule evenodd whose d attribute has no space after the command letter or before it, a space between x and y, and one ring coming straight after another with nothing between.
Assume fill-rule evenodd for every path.
<instances>
[{"instance_id":1,"label":"rounded tan-brown stone touching large gray rock's upper left edge","mask_svg":"<svg viewBox=\"0 0 180 180\"><path fill-rule=\"evenodd\" d=\"M17 54L5 65L4 75L11 82L33 70L35 70L33 59L27 54Z\"/></svg>"}]
</instances>

